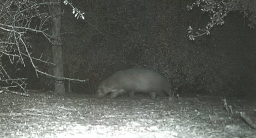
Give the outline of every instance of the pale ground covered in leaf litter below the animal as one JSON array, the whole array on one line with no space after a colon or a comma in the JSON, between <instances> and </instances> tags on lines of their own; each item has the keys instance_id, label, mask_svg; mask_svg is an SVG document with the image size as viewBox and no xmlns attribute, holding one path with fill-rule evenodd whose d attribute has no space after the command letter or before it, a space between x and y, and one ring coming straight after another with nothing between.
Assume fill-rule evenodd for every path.
<instances>
[{"instance_id":1,"label":"pale ground covered in leaf litter below the animal","mask_svg":"<svg viewBox=\"0 0 256 138\"><path fill-rule=\"evenodd\" d=\"M255 100L0 93L0 137L256 137ZM253 109L254 108L254 109Z\"/></svg>"}]
</instances>

